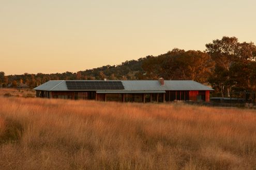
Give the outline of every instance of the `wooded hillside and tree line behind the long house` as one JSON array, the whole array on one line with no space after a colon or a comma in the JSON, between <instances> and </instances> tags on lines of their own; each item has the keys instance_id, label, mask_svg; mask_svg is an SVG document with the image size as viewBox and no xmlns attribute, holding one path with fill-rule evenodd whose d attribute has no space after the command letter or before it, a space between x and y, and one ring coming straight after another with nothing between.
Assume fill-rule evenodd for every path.
<instances>
[{"instance_id":1,"label":"wooded hillside and tree line behind the long house","mask_svg":"<svg viewBox=\"0 0 256 170\"><path fill-rule=\"evenodd\" d=\"M256 90L256 47L222 37L206 44L205 51L173 49L159 56L125 61L77 73L8 75L0 72L0 84L33 88L49 80L194 80L211 85L215 95L230 96L232 91Z\"/></svg>"}]
</instances>

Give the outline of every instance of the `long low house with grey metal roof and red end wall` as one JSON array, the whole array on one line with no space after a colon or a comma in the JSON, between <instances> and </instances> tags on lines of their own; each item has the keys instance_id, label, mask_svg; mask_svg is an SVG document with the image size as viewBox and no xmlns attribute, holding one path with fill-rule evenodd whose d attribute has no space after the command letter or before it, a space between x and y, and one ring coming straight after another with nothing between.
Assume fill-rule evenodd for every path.
<instances>
[{"instance_id":1,"label":"long low house with grey metal roof and red end wall","mask_svg":"<svg viewBox=\"0 0 256 170\"><path fill-rule=\"evenodd\" d=\"M36 96L120 102L209 101L214 90L191 80L58 80L36 88Z\"/></svg>"}]
</instances>

